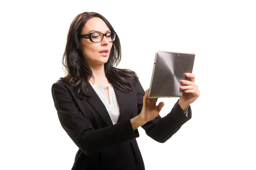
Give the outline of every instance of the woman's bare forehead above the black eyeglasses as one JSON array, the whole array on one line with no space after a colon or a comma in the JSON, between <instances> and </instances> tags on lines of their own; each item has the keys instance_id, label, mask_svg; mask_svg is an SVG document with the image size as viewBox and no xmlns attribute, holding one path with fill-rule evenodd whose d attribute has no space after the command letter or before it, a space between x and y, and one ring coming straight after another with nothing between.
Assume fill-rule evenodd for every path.
<instances>
[{"instance_id":1,"label":"woman's bare forehead above the black eyeglasses","mask_svg":"<svg viewBox=\"0 0 256 170\"><path fill-rule=\"evenodd\" d=\"M109 30L109 28L102 19L100 19L98 17L93 17L93 18L90 18L85 23L84 28L82 29L82 33L87 34L91 30L95 30L95 31L105 33L106 31Z\"/></svg>"}]
</instances>

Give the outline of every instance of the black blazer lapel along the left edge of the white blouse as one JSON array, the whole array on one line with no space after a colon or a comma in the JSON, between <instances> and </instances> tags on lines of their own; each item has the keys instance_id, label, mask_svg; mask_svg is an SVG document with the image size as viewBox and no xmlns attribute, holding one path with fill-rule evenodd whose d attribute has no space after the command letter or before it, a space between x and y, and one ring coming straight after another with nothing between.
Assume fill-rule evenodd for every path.
<instances>
[{"instance_id":1,"label":"black blazer lapel along the left edge of the white blouse","mask_svg":"<svg viewBox=\"0 0 256 170\"><path fill-rule=\"evenodd\" d=\"M88 91L88 94L92 97L89 97L89 98L86 97L87 102L89 102L90 105L92 105L92 107L99 113L99 115L104 120L104 122L107 124L107 126L113 125L113 122L109 116L109 113L108 113L105 105L99 98L98 94L96 93L96 91L94 91L93 87L90 84L89 84L89 88L90 88L90 90Z\"/></svg>"}]
</instances>

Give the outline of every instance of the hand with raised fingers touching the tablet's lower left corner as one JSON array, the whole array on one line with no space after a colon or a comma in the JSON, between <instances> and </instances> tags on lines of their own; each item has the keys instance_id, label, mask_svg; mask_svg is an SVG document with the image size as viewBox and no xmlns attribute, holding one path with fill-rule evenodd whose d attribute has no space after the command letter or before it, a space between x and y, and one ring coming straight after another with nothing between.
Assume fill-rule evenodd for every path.
<instances>
[{"instance_id":1,"label":"hand with raised fingers touching the tablet's lower left corner","mask_svg":"<svg viewBox=\"0 0 256 170\"><path fill-rule=\"evenodd\" d=\"M148 98L148 91L149 89L145 91L143 108L140 114L131 119L131 125L134 130L157 117L164 106L164 102L160 102L156 105L158 98Z\"/></svg>"}]
</instances>

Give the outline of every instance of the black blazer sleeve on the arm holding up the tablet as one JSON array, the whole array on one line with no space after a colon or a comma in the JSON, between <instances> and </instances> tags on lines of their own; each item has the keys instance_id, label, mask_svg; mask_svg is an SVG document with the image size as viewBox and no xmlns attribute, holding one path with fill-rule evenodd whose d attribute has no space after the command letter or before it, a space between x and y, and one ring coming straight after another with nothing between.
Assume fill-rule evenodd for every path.
<instances>
[{"instance_id":1,"label":"black blazer sleeve on the arm holding up the tablet","mask_svg":"<svg viewBox=\"0 0 256 170\"><path fill-rule=\"evenodd\" d=\"M140 84L140 81L136 83L135 90L138 100L138 114L140 114L143 107L143 96L145 95L145 91ZM155 119L145 123L142 126L148 136L157 142L164 143L171 138L172 135L174 135L185 122L191 119L191 107L189 106L188 114L186 116L180 108L178 102L179 100L175 103L171 112L169 112L166 116L161 118L161 116L158 115Z\"/></svg>"}]
</instances>

